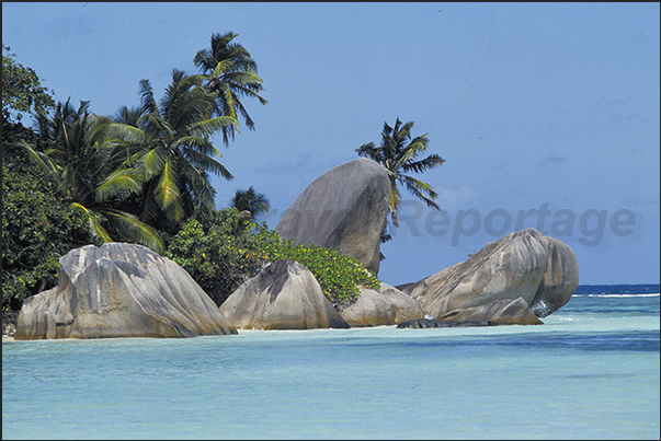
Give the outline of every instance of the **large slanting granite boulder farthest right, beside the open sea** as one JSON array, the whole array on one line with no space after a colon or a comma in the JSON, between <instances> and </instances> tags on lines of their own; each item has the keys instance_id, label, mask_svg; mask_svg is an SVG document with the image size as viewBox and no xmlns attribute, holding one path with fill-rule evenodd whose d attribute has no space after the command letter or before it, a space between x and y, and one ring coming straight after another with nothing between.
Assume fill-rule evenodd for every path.
<instances>
[{"instance_id":1,"label":"large slanting granite boulder farthest right, beside the open sea","mask_svg":"<svg viewBox=\"0 0 661 441\"><path fill-rule=\"evenodd\" d=\"M487 244L466 262L397 288L437 318L502 322L495 314L508 323L535 324L522 304L544 317L566 304L578 285L573 251L526 229Z\"/></svg>"}]
</instances>

